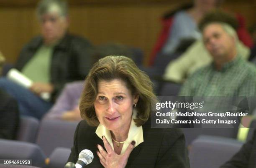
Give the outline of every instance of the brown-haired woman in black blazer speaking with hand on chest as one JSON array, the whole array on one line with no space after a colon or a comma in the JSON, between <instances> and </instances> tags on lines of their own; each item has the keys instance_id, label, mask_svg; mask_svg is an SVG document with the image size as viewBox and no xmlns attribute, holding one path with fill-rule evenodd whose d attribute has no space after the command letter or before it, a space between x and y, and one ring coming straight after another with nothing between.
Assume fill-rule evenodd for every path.
<instances>
[{"instance_id":1,"label":"brown-haired woman in black blazer speaking with hand on chest","mask_svg":"<svg viewBox=\"0 0 256 168\"><path fill-rule=\"evenodd\" d=\"M85 80L80 100L82 120L74 135L68 161L75 163L84 149L98 155L88 167L187 168L182 131L152 129L156 103L148 76L125 56L97 61Z\"/></svg>"}]
</instances>

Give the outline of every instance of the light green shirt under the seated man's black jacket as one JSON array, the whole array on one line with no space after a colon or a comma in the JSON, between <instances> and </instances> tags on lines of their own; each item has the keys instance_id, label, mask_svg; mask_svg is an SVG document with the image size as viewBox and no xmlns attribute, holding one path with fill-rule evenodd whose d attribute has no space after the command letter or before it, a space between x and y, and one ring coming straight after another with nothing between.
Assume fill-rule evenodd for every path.
<instances>
[{"instance_id":1,"label":"light green shirt under the seated man's black jacket","mask_svg":"<svg viewBox=\"0 0 256 168\"><path fill-rule=\"evenodd\" d=\"M21 72L34 82L49 83L53 48L53 45L42 45Z\"/></svg>"}]
</instances>

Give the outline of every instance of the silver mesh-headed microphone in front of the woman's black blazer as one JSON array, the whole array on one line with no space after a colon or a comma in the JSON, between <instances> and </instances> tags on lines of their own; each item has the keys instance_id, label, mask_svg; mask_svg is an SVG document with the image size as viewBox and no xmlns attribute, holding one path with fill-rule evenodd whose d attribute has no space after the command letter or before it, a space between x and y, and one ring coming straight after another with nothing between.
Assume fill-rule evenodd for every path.
<instances>
[{"instance_id":1,"label":"silver mesh-headed microphone in front of the woman's black blazer","mask_svg":"<svg viewBox=\"0 0 256 168\"><path fill-rule=\"evenodd\" d=\"M93 153L91 150L84 149L79 153L78 160L76 163L76 168L84 168L86 165L90 164L93 160Z\"/></svg>"}]
</instances>

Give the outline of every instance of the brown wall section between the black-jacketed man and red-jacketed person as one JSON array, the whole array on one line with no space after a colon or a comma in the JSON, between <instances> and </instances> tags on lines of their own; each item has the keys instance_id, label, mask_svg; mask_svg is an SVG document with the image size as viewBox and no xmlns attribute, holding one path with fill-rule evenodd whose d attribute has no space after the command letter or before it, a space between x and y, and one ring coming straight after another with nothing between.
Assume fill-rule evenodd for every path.
<instances>
[{"instance_id":1,"label":"brown wall section between the black-jacketed man and red-jacketed person","mask_svg":"<svg viewBox=\"0 0 256 168\"><path fill-rule=\"evenodd\" d=\"M141 48L145 55L149 55L161 28L161 15L164 11L177 8L177 5L73 7L70 11L70 30L95 44L122 43Z\"/></svg>"}]
</instances>

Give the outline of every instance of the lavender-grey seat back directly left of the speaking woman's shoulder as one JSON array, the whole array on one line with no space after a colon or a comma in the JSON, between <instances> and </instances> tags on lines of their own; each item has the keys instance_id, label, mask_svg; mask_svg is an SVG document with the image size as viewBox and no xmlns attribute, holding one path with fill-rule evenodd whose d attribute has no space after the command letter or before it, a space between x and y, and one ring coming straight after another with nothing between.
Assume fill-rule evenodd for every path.
<instances>
[{"instance_id":1,"label":"lavender-grey seat back directly left of the speaking woman's shoulder","mask_svg":"<svg viewBox=\"0 0 256 168\"><path fill-rule=\"evenodd\" d=\"M78 122L62 120L42 120L36 143L46 156L57 147L71 148L77 124Z\"/></svg>"}]
</instances>

